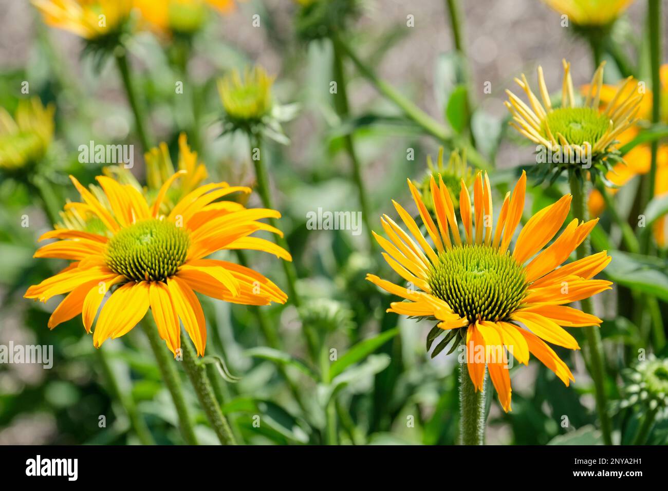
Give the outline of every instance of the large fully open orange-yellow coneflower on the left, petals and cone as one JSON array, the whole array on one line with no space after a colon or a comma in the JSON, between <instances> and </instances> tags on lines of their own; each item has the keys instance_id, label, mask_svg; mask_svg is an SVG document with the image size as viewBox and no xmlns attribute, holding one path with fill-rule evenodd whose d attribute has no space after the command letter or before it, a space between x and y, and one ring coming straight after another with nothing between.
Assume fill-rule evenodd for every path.
<instances>
[{"instance_id":1,"label":"large fully open orange-yellow coneflower on the left, petals and cone","mask_svg":"<svg viewBox=\"0 0 668 491\"><path fill-rule=\"evenodd\" d=\"M114 287L96 323L96 347L110 337L128 333L150 308L160 337L175 355L180 347L179 319L202 355L206 322L194 292L246 305L285 303L285 293L256 271L204 259L222 249L250 249L291 261L290 255L273 242L251 237L258 230L281 234L277 228L257 221L279 218L280 213L218 201L228 194L251 190L217 182L192 190L169 214L161 214L160 206L172 182L184 174L186 171L180 170L168 179L152 204L131 184L119 184L108 176L98 176L97 195L71 177L83 201L67 208L76 210L84 224L92 216L103 226L100 232L56 228L40 237L61 240L41 247L35 257L73 261L25 293L26 298L43 302L68 293L53 311L49 328L81 313L83 327L90 333L107 291ZM77 221L70 223L77 225Z\"/></svg>"}]
</instances>

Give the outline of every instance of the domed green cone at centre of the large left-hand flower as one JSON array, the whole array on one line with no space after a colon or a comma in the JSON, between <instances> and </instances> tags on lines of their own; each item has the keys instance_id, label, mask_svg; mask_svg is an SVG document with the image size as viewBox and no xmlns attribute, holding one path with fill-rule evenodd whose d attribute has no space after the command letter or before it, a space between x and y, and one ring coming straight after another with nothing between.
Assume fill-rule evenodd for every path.
<instances>
[{"instance_id":1,"label":"domed green cone at centre of the large left-hand flower","mask_svg":"<svg viewBox=\"0 0 668 491\"><path fill-rule=\"evenodd\" d=\"M164 220L145 220L123 228L107 244L109 269L134 281L164 281L186 262L190 238Z\"/></svg>"}]
</instances>

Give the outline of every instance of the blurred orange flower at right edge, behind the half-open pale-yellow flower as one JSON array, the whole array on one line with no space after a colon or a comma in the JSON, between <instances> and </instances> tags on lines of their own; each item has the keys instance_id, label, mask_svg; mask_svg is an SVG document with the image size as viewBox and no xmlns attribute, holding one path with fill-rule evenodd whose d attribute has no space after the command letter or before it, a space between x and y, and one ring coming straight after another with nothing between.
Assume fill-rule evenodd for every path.
<instances>
[{"instance_id":1,"label":"blurred orange flower at right edge, behind the half-open pale-yellow flower","mask_svg":"<svg viewBox=\"0 0 668 491\"><path fill-rule=\"evenodd\" d=\"M661 121L668 123L668 64L661 66ZM630 90L633 91L635 84L629 84ZM589 86L584 86L582 91L588 91ZM629 89L627 89L629 90ZM625 98L625 94L615 99L616 89L613 86L603 85L601 87L601 110L605 111L615 109L619 106L621 100ZM652 94L647 91L645 98L640 106L638 113L639 119L651 120L652 113ZM635 126L629 128L617 139L621 145L631 142L638 136L639 129ZM619 162L608 172L606 178L616 184L623 186L635 176L647 174L651 166L652 154L649 145L638 145L632 148L626 154L625 164ZM609 189L611 194L617 192L616 188ZM668 146L659 146L659 153L657 154L657 176L655 180L654 196L663 196L668 193ZM605 202L601 192L595 189L589 195L589 213L592 216L599 216L605 210ZM668 245L668 217L663 216L659 218L654 224L654 236L657 244L664 248Z\"/></svg>"}]
</instances>

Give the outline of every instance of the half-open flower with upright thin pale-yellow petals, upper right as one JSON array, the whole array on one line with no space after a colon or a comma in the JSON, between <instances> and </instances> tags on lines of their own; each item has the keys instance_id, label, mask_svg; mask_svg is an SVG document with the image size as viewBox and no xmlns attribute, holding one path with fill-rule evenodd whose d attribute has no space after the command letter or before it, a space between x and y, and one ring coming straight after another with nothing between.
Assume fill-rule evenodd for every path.
<instances>
[{"instance_id":1,"label":"half-open flower with upright thin pale-yellow petals, upper right","mask_svg":"<svg viewBox=\"0 0 668 491\"><path fill-rule=\"evenodd\" d=\"M530 89L524 73L522 79L515 79L524 90L529 104L506 90L509 100L505 104L513 116L510 126L547 151L570 156L560 159L562 162L556 165L548 165L547 172L556 174L572 168L573 162L580 163L589 157L592 160L589 163L593 164L589 172L597 174L601 164L609 166L608 160L617 158L617 138L635 123L643 94L629 90L633 85L633 79L629 77L621 83L615 94L617 106L599 112L604 62L594 73L585 102L578 104L570 77L570 63L565 59L562 63L564 80L561 104L557 108L552 107L542 67L538 67L538 88L542 104ZM622 99L621 94L625 94L625 98Z\"/></svg>"}]
</instances>

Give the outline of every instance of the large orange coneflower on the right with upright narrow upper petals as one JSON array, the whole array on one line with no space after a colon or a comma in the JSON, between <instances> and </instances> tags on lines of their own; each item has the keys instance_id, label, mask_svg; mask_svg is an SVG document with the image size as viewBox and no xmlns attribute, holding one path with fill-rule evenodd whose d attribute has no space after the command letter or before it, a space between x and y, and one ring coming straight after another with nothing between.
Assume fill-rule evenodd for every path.
<instances>
[{"instance_id":1,"label":"large orange coneflower on the right with upright narrow upper petals","mask_svg":"<svg viewBox=\"0 0 668 491\"><path fill-rule=\"evenodd\" d=\"M432 178L436 223L410 180L408 186L434 248L418 224L397 202L393 202L409 236L392 218L381 223L389 240L374 234L385 249L383 257L409 288L375 275L367 279L405 301L391 303L388 310L410 317L436 319L446 331L460 329L466 339L468 373L476 387L483 388L485 363L504 410L510 411L510 376L504 357L507 349L520 363L532 353L566 385L574 380L566 364L545 343L579 349L577 341L561 326L600 325L601 319L567 307L610 289L611 282L592 279L610 261L607 253L558 267L585 240L596 220L572 220L552 244L570 209L570 194L543 208L522 228L514 251L508 250L524 209L524 172L512 194L508 192L492 229L492 191L487 174L478 173L471 197L462 184L460 224L452 196L442 179ZM475 228L474 228L475 224Z\"/></svg>"}]
</instances>

